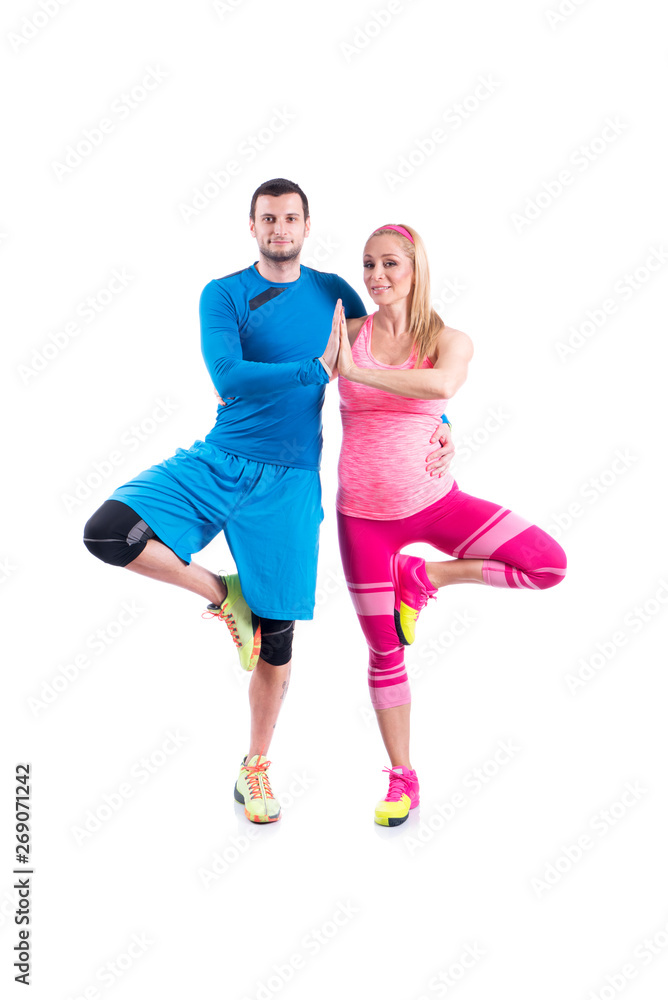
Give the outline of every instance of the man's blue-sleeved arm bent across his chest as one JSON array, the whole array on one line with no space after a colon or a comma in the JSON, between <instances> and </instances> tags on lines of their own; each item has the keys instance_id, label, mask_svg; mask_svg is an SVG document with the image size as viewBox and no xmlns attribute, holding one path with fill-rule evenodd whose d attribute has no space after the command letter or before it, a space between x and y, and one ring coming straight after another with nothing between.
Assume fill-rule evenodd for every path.
<instances>
[{"instance_id":1,"label":"man's blue-sleeved arm bent across his chest","mask_svg":"<svg viewBox=\"0 0 668 1000\"><path fill-rule=\"evenodd\" d=\"M204 288L199 314L202 355L219 396L227 399L266 396L297 386L329 382L318 358L276 363L244 361L237 315L218 282L210 281Z\"/></svg>"}]
</instances>

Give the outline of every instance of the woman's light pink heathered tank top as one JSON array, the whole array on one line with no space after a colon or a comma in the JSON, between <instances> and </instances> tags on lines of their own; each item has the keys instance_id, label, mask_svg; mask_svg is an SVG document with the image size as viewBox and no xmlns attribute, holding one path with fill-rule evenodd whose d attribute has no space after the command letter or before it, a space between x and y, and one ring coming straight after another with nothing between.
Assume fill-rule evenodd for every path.
<instances>
[{"instance_id":1,"label":"woman's light pink heathered tank top","mask_svg":"<svg viewBox=\"0 0 668 1000\"><path fill-rule=\"evenodd\" d=\"M373 316L353 344L355 364L388 371L413 368L415 347L401 365L384 365L371 353ZM428 358L423 368L433 368ZM452 488L449 472L426 471L425 459L437 444L429 439L441 422L447 400L409 399L382 389L339 379L343 442L336 506L343 514L391 521L410 517Z\"/></svg>"}]
</instances>

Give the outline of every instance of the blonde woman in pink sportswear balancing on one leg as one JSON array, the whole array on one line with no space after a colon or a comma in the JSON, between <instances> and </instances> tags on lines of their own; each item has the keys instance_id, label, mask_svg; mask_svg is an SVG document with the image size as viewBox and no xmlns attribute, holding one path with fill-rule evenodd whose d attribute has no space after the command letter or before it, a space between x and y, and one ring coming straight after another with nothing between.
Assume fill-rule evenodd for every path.
<instances>
[{"instance_id":1,"label":"blonde woman in pink sportswear balancing on one leg","mask_svg":"<svg viewBox=\"0 0 668 1000\"><path fill-rule=\"evenodd\" d=\"M348 326L340 302L334 314L343 421L337 510L346 580L369 646L371 701L391 762L375 820L397 826L419 802L403 647L415 638L421 609L455 583L553 587L566 557L540 528L462 493L450 473L425 473L423 442L466 379L471 340L431 308L424 245L410 226L375 230L363 266L378 311ZM455 558L404 555L414 542Z\"/></svg>"}]
</instances>

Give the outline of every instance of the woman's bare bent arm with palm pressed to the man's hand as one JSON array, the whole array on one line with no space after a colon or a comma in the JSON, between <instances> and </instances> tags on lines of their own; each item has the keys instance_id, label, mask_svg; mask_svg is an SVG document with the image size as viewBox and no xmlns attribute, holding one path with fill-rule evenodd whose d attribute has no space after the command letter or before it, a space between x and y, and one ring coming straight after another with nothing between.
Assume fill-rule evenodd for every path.
<instances>
[{"instance_id":1,"label":"woman's bare bent arm with palm pressed to the man's hand","mask_svg":"<svg viewBox=\"0 0 668 1000\"><path fill-rule=\"evenodd\" d=\"M433 368L411 368L388 371L361 368L353 361L343 310L341 317L341 347L337 361L339 375L350 382L382 389L396 396L411 399L452 399L466 381L469 361L473 357L471 338L461 330L446 326L436 343Z\"/></svg>"}]
</instances>

